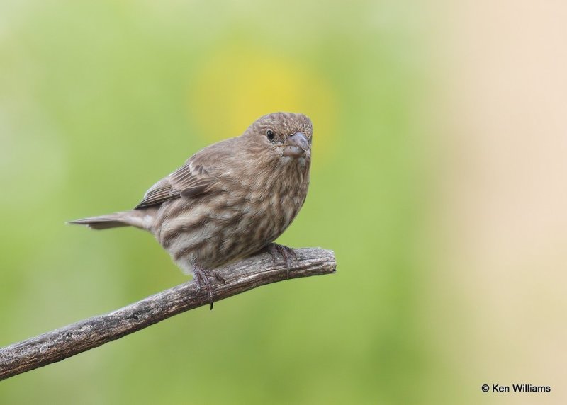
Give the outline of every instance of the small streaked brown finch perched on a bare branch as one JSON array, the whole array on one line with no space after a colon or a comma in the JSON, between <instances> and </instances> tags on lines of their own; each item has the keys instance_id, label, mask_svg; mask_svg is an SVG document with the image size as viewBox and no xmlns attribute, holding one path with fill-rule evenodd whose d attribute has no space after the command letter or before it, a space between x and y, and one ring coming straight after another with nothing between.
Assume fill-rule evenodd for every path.
<instances>
[{"instance_id":1,"label":"small streaked brown finch perched on a bare branch","mask_svg":"<svg viewBox=\"0 0 567 405\"><path fill-rule=\"evenodd\" d=\"M147 190L133 210L69 222L93 229L151 232L185 273L205 285L213 269L268 248L301 209L309 186L313 125L303 114L272 113L240 137L212 144Z\"/></svg>"}]
</instances>

